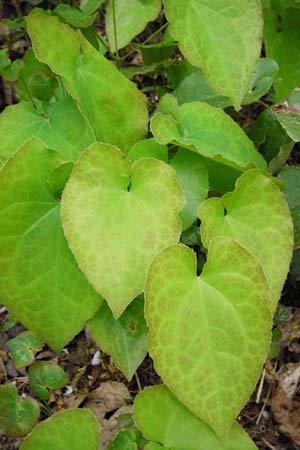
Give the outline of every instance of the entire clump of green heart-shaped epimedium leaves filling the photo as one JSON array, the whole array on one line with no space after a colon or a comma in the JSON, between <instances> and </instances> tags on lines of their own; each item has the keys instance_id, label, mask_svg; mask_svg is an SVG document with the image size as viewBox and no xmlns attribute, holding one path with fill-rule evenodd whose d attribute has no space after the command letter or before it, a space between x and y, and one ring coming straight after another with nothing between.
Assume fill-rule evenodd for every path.
<instances>
[{"instance_id":1,"label":"entire clump of green heart-shaped epimedium leaves filling the photo","mask_svg":"<svg viewBox=\"0 0 300 450\"><path fill-rule=\"evenodd\" d=\"M110 449L255 449L236 417L268 355L293 224L299 248L299 173L281 169L300 140L291 93L300 80L276 57L270 17L298 6L165 0L163 39L184 59L163 66L173 89L148 132L145 95L103 49L120 64L119 51L161 4L110 0L106 43L86 31L102 3L26 18L32 50L19 65L22 101L0 116L0 296L30 331L8 349L18 367L29 366L43 400L66 376L49 362L32 364L42 342L59 353L87 324L129 380L149 351L164 385L135 399L143 440L128 430ZM259 59L264 20L267 58ZM271 96L274 84L276 101L291 95L247 135L234 109ZM38 415L34 400L19 403L12 386L0 389L1 431L23 436ZM54 414L21 449L54 441L59 450L97 450L92 413Z\"/></svg>"}]
</instances>

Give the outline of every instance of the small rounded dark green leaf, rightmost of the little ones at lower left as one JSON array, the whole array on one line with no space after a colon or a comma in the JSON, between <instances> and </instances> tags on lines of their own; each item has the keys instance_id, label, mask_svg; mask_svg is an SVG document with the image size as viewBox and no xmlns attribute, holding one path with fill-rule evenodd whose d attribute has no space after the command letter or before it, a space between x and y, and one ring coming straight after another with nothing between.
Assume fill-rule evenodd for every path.
<instances>
[{"instance_id":1,"label":"small rounded dark green leaf, rightmost of the little ones at lower left","mask_svg":"<svg viewBox=\"0 0 300 450\"><path fill-rule=\"evenodd\" d=\"M31 389L42 400L49 399L48 389L60 389L67 383L65 371L48 361L32 364L28 370L28 379Z\"/></svg>"}]
</instances>

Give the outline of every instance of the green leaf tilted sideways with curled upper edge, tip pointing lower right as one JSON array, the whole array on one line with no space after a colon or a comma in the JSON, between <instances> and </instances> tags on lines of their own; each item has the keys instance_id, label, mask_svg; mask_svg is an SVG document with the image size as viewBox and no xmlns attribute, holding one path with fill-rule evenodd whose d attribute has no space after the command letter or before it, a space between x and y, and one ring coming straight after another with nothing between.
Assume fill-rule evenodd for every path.
<instances>
[{"instance_id":1,"label":"green leaf tilted sideways with curled upper edge, tip pointing lower right","mask_svg":"<svg viewBox=\"0 0 300 450\"><path fill-rule=\"evenodd\" d=\"M151 131L160 144L177 144L240 171L249 166L267 169L253 143L224 111L201 102L178 106L170 94L159 106Z\"/></svg>"}]
</instances>

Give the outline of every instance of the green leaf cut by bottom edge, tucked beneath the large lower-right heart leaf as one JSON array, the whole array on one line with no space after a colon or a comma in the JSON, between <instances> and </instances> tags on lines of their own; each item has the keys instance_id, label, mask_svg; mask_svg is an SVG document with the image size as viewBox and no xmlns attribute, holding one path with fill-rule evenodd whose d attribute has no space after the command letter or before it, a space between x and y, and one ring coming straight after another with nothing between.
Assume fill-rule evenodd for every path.
<instances>
[{"instance_id":1,"label":"green leaf cut by bottom edge, tucked beneath the large lower-right heart leaf","mask_svg":"<svg viewBox=\"0 0 300 450\"><path fill-rule=\"evenodd\" d=\"M134 401L134 420L148 439L172 450L255 450L256 447L235 422L228 437L221 441L209 426L194 416L164 386L140 392ZM148 450L148 447L145 447ZM149 446L158 450L160 446Z\"/></svg>"}]
</instances>

